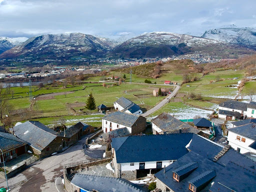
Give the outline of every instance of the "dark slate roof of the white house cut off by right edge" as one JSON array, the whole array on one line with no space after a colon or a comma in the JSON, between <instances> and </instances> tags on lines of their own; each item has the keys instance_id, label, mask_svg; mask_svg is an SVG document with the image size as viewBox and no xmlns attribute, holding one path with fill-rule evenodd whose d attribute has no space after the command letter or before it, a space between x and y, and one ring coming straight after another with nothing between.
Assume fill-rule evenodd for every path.
<instances>
[{"instance_id":1,"label":"dark slate roof of the white house cut off by right edge","mask_svg":"<svg viewBox=\"0 0 256 192\"><path fill-rule=\"evenodd\" d=\"M241 126L228 128L228 131L235 132L247 138L256 140L256 123L251 122Z\"/></svg>"}]
</instances>

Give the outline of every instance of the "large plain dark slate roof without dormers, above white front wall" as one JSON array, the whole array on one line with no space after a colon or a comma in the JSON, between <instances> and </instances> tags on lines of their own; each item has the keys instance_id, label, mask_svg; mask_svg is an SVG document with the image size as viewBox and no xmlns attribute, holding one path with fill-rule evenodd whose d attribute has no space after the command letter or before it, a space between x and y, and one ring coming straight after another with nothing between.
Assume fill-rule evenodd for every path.
<instances>
[{"instance_id":1,"label":"large plain dark slate roof without dormers, above white front wall","mask_svg":"<svg viewBox=\"0 0 256 192\"><path fill-rule=\"evenodd\" d=\"M117 163L175 160L186 154L192 133L112 138Z\"/></svg>"}]
</instances>

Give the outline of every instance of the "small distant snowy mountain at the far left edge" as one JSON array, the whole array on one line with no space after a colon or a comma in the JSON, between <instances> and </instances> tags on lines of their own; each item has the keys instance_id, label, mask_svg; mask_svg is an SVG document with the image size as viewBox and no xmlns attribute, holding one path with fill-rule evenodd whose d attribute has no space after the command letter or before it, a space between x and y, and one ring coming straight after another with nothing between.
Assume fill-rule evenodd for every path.
<instances>
[{"instance_id":1,"label":"small distant snowy mountain at the far left edge","mask_svg":"<svg viewBox=\"0 0 256 192\"><path fill-rule=\"evenodd\" d=\"M27 37L16 37L16 38L10 38L5 36L0 36L0 54L4 52L5 50L8 50L21 42L26 41Z\"/></svg>"}]
</instances>

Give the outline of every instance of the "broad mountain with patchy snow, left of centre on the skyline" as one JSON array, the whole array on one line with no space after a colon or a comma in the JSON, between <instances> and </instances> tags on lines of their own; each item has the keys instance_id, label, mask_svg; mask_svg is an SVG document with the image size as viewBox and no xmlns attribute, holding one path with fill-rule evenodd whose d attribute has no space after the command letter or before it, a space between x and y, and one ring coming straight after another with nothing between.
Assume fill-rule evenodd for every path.
<instances>
[{"instance_id":1,"label":"broad mountain with patchy snow, left of centre on the skyline","mask_svg":"<svg viewBox=\"0 0 256 192\"><path fill-rule=\"evenodd\" d=\"M33 58L69 58L71 56L98 56L111 49L107 38L83 33L45 34L31 37L3 52L0 58L32 56Z\"/></svg>"}]
</instances>

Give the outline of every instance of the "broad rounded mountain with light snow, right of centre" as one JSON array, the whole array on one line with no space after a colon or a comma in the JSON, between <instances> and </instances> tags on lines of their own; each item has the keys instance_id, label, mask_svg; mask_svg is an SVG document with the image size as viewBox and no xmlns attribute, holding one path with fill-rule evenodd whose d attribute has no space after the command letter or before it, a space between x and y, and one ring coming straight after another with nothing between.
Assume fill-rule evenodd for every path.
<instances>
[{"instance_id":1,"label":"broad rounded mountain with light snow, right of centre","mask_svg":"<svg viewBox=\"0 0 256 192\"><path fill-rule=\"evenodd\" d=\"M149 32L124 41L117 45L112 53L132 58L164 57L195 51L215 54L224 48L230 48L231 51L234 49L220 40L172 32Z\"/></svg>"}]
</instances>

